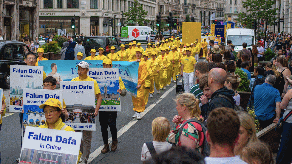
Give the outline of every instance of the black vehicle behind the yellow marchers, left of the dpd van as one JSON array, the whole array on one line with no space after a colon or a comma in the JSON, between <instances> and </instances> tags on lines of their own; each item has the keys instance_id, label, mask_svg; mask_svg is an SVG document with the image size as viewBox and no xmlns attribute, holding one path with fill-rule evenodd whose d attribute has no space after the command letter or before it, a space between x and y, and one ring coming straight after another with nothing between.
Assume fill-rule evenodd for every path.
<instances>
[{"instance_id":1,"label":"black vehicle behind the yellow marchers, left of the dpd van","mask_svg":"<svg viewBox=\"0 0 292 164\"><path fill-rule=\"evenodd\" d=\"M86 57L90 56L90 50L96 50L96 56L99 55L98 49L103 48L103 55L110 53L111 46L115 47L115 52L120 51L118 40L114 36L86 36L83 38L82 46L85 48Z\"/></svg>"}]
</instances>

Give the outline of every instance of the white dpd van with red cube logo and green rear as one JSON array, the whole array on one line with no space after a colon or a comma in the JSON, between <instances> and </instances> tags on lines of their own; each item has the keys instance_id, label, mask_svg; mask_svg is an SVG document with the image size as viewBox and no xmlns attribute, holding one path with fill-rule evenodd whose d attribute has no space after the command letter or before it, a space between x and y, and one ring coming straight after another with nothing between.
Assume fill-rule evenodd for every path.
<instances>
[{"instance_id":1,"label":"white dpd van with red cube logo and green rear","mask_svg":"<svg viewBox=\"0 0 292 164\"><path fill-rule=\"evenodd\" d=\"M148 26L123 26L121 37L129 38L140 43L146 43L147 35L156 35L156 33Z\"/></svg>"}]
</instances>

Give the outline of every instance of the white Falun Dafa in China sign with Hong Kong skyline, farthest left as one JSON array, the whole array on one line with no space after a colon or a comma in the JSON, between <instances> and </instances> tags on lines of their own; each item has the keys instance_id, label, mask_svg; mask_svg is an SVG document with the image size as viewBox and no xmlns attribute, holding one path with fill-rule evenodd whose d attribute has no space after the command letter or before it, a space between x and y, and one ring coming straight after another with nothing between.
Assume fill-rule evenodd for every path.
<instances>
[{"instance_id":1,"label":"white Falun Dafa in China sign with Hong Kong skyline, farthest left","mask_svg":"<svg viewBox=\"0 0 292 164\"><path fill-rule=\"evenodd\" d=\"M10 65L10 112L23 109L23 89L42 89L43 66Z\"/></svg>"}]
</instances>

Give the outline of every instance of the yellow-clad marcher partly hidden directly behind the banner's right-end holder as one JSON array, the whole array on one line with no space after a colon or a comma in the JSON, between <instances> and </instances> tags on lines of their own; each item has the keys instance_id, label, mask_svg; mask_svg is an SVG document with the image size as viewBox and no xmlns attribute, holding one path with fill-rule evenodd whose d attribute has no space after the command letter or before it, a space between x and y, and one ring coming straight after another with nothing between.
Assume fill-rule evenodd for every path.
<instances>
[{"instance_id":1,"label":"yellow-clad marcher partly hidden directly behind the banner's right-end holder","mask_svg":"<svg viewBox=\"0 0 292 164\"><path fill-rule=\"evenodd\" d=\"M144 61L146 62L147 64L147 77L145 79L145 85L144 85L144 101L145 101L145 105L147 105L147 102L148 102L148 93L149 93L149 90L151 88L151 80L153 80L153 72L152 72L152 69L151 69L151 66L152 66L152 63L149 62L148 60L148 53L144 52L143 53L143 58L144 58ZM153 97L152 94L150 94L150 97Z\"/></svg>"}]
</instances>

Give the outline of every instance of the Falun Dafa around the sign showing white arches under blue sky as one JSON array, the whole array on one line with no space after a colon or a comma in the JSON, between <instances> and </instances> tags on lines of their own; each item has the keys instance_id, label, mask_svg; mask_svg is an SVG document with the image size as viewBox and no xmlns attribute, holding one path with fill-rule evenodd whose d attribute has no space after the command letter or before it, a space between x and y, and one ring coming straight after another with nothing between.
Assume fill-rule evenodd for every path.
<instances>
[{"instance_id":1,"label":"Falun Dafa around the sign showing white arches under blue sky","mask_svg":"<svg viewBox=\"0 0 292 164\"><path fill-rule=\"evenodd\" d=\"M46 122L44 110L39 106L49 98L58 99L63 106L63 91L48 89L24 89L23 90L23 131L27 126L38 127Z\"/></svg>"}]
</instances>

